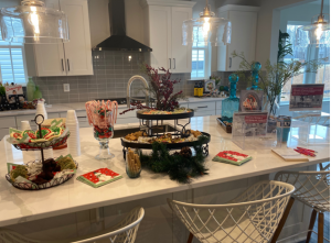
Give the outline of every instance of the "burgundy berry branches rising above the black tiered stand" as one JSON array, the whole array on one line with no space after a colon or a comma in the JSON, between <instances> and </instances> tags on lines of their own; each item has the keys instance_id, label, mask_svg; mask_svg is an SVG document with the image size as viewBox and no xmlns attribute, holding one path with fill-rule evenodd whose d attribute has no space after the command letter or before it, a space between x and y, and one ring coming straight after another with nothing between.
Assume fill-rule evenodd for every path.
<instances>
[{"instance_id":1,"label":"burgundy berry branches rising above the black tiered stand","mask_svg":"<svg viewBox=\"0 0 331 243\"><path fill-rule=\"evenodd\" d=\"M164 71L164 74L159 74ZM152 98L156 99L154 103L151 106L143 106L140 101L131 102L131 108L122 111L120 114L124 114L132 110L141 109L152 109L160 111L173 111L179 108L178 100L184 98L183 91L173 93L173 86L179 84L180 80L171 80L171 73L166 70L166 68L153 68L148 64L142 66L142 71L148 76L149 88L148 91L151 93Z\"/></svg>"}]
</instances>

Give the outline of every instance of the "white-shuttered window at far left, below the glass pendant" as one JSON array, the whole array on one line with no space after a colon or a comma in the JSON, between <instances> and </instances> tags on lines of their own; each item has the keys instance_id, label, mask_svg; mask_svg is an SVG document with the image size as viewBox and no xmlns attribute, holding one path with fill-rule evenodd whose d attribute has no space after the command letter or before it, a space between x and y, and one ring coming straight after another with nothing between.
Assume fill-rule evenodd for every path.
<instances>
[{"instance_id":1,"label":"white-shuttered window at far left, below the glass pendant","mask_svg":"<svg viewBox=\"0 0 331 243\"><path fill-rule=\"evenodd\" d=\"M22 24L14 26L18 31L23 31ZM25 85L28 79L25 67L24 44L4 42L0 37L0 81Z\"/></svg>"}]
</instances>

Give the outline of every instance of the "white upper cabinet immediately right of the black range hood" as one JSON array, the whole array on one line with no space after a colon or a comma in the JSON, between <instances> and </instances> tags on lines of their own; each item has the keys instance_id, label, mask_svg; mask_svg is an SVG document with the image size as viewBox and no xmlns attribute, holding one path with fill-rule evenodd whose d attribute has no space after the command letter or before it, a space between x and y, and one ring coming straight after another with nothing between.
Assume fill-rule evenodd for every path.
<instances>
[{"instance_id":1,"label":"white upper cabinet immediately right of the black range hood","mask_svg":"<svg viewBox=\"0 0 331 243\"><path fill-rule=\"evenodd\" d=\"M192 19L195 2L141 0L150 65L171 73L191 73L192 48L182 45L183 21Z\"/></svg>"}]
</instances>

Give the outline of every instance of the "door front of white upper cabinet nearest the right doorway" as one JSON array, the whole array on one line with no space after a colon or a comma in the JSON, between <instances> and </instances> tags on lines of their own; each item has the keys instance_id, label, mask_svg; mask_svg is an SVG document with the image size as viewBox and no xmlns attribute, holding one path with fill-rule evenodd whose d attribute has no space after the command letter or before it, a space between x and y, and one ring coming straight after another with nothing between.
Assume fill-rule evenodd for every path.
<instances>
[{"instance_id":1,"label":"door front of white upper cabinet nearest the right doorway","mask_svg":"<svg viewBox=\"0 0 331 243\"><path fill-rule=\"evenodd\" d=\"M244 53L248 62L255 59L255 41L256 41L256 12L229 11L229 20L232 23L231 45L228 45L227 55ZM227 65L228 70L238 70L241 58L232 58Z\"/></svg>"}]
</instances>

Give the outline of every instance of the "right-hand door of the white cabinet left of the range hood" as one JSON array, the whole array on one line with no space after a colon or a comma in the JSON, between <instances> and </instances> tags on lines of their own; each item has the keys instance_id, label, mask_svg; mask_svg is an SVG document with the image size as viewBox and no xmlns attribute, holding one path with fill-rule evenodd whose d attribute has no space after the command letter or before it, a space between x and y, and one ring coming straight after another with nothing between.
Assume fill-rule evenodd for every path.
<instances>
[{"instance_id":1,"label":"right-hand door of the white cabinet left of the range hood","mask_svg":"<svg viewBox=\"0 0 331 243\"><path fill-rule=\"evenodd\" d=\"M71 40L64 43L67 75L93 75L87 0L60 0L60 7L70 25Z\"/></svg>"}]
</instances>

